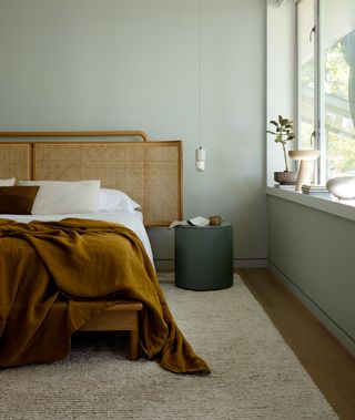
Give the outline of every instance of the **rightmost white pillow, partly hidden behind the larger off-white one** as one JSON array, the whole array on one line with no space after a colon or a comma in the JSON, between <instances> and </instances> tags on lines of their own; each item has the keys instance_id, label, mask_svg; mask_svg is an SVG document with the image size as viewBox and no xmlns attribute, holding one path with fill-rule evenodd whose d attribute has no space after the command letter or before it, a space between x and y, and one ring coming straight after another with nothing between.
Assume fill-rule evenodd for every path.
<instances>
[{"instance_id":1,"label":"rightmost white pillow, partly hidden behind the larger off-white one","mask_svg":"<svg viewBox=\"0 0 355 420\"><path fill-rule=\"evenodd\" d=\"M141 206L119 189L101 188L99 194L99 212L130 212L141 209Z\"/></svg>"}]
</instances>

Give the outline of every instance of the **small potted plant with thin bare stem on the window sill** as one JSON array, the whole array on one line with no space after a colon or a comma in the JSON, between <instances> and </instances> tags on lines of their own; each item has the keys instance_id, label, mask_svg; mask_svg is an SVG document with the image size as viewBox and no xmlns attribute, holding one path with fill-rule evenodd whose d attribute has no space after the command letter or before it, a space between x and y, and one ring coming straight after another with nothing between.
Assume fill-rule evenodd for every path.
<instances>
[{"instance_id":1,"label":"small potted plant with thin bare stem on the window sill","mask_svg":"<svg viewBox=\"0 0 355 420\"><path fill-rule=\"evenodd\" d=\"M270 124L274 125L273 131L267 130L266 133L274 135L275 143L280 143L282 145L285 161L285 171L274 172L274 180L282 185L295 185L297 180L297 172L288 171L288 160L286 152L287 142L292 142L295 139L293 131L293 121L278 115L277 121L271 120Z\"/></svg>"}]
</instances>

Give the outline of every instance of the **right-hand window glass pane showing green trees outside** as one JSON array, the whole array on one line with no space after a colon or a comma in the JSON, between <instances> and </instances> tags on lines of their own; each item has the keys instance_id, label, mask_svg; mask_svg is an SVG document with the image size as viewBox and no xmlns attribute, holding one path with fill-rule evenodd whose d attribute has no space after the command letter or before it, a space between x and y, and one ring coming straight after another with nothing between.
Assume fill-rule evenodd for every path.
<instances>
[{"instance_id":1,"label":"right-hand window glass pane showing green trees outside","mask_svg":"<svg viewBox=\"0 0 355 420\"><path fill-rule=\"evenodd\" d=\"M326 178L355 175L355 0L324 0L322 22Z\"/></svg>"}]
</instances>

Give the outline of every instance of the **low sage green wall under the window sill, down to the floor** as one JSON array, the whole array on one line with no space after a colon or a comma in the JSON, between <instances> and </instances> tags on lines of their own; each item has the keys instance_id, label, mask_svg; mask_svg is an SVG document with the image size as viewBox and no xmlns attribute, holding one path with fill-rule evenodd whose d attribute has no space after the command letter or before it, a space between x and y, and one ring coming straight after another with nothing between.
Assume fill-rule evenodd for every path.
<instances>
[{"instance_id":1,"label":"low sage green wall under the window sill, down to the floor","mask_svg":"<svg viewBox=\"0 0 355 420\"><path fill-rule=\"evenodd\" d=\"M355 355L355 222L268 196L270 264Z\"/></svg>"}]
</instances>

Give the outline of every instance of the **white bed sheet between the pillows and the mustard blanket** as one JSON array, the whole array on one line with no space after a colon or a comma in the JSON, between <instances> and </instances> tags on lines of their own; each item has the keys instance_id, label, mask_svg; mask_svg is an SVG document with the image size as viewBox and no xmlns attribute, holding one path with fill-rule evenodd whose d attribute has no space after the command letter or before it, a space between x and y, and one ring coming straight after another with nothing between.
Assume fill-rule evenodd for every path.
<instances>
[{"instance_id":1,"label":"white bed sheet between the pillows and the mustard blanket","mask_svg":"<svg viewBox=\"0 0 355 420\"><path fill-rule=\"evenodd\" d=\"M74 218L89 218L91 221L104 221L119 223L129 229L133 231L138 237L142 240L142 244L153 263L152 247L149 242L149 237L143 225L143 216L141 212L115 212L115 213L83 213L83 214L0 214L0 218L9 218L11 221L20 223L29 223L32 221L39 222L58 222L63 218L74 217Z\"/></svg>"}]
</instances>

